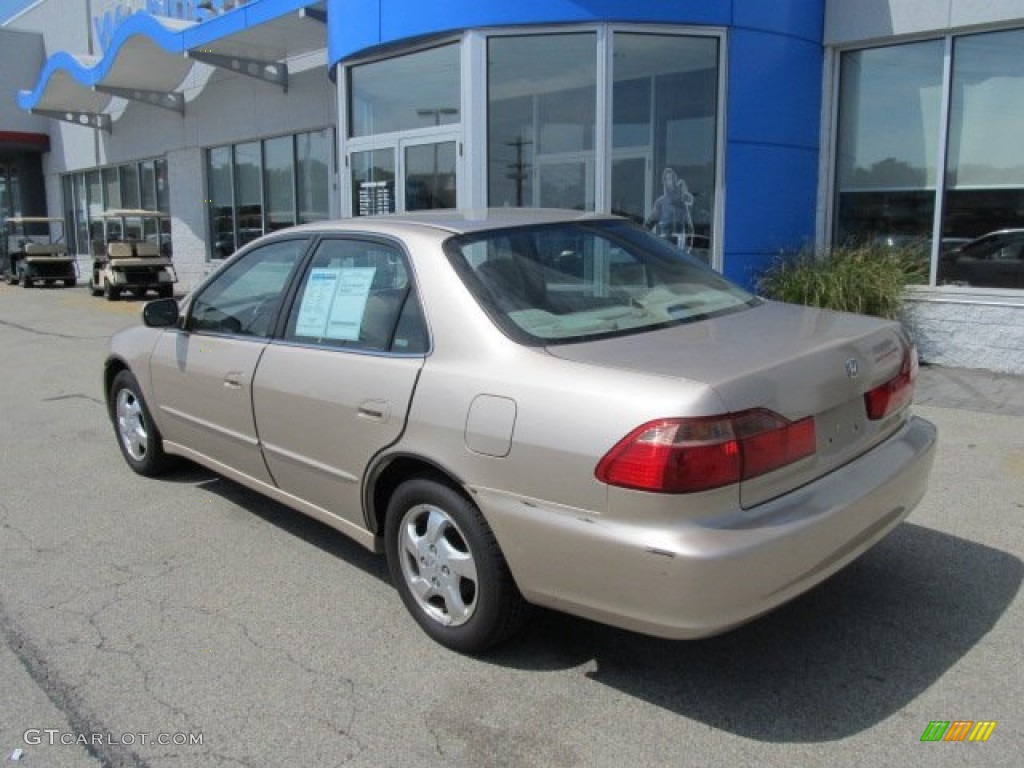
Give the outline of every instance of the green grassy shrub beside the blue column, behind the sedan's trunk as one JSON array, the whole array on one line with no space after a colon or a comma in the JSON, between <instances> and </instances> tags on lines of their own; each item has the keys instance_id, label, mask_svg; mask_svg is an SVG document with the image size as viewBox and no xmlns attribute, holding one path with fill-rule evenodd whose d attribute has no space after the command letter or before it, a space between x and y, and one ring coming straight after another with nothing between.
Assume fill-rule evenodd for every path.
<instances>
[{"instance_id":1,"label":"green grassy shrub beside the blue column, behind the sedan's trunk","mask_svg":"<svg viewBox=\"0 0 1024 768\"><path fill-rule=\"evenodd\" d=\"M757 280L765 298L895 319L904 289L927 278L921 248L835 246L783 253Z\"/></svg>"}]
</instances>

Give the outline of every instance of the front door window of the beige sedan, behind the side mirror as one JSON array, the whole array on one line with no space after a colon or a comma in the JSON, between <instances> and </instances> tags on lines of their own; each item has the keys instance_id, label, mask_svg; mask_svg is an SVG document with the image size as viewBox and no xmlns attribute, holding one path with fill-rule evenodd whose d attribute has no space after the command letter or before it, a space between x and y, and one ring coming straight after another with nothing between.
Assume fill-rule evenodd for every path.
<instances>
[{"instance_id":1,"label":"front door window of the beige sedan, behind the side mirror","mask_svg":"<svg viewBox=\"0 0 1024 768\"><path fill-rule=\"evenodd\" d=\"M193 302L189 331L266 337L281 311L285 287L308 240L259 246L231 261Z\"/></svg>"}]
</instances>

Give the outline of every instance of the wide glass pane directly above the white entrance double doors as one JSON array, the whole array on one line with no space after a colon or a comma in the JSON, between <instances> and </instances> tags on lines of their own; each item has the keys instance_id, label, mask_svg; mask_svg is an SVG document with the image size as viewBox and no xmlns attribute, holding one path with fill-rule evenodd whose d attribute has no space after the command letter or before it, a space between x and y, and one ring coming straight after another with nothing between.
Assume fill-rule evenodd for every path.
<instances>
[{"instance_id":1,"label":"wide glass pane directly above the white entrance double doors","mask_svg":"<svg viewBox=\"0 0 1024 768\"><path fill-rule=\"evenodd\" d=\"M372 136L459 122L458 44L349 70L349 135Z\"/></svg>"}]
</instances>

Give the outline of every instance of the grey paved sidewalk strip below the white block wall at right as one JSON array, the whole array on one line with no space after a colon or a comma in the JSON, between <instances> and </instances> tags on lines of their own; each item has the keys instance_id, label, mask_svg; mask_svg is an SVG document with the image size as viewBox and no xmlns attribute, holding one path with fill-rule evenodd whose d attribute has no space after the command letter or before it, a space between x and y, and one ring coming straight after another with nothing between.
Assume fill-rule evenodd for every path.
<instances>
[{"instance_id":1,"label":"grey paved sidewalk strip below the white block wall at right","mask_svg":"<svg viewBox=\"0 0 1024 768\"><path fill-rule=\"evenodd\" d=\"M922 366L913 401L920 406L1024 417L1024 377Z\"/></svg>"}]
</instances>

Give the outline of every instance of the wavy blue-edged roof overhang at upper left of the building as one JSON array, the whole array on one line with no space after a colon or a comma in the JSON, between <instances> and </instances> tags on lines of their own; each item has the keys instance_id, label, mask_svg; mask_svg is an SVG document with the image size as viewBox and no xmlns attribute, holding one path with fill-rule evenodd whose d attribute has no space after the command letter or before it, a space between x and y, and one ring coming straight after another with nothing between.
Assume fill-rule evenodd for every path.
<instances>
[{"instance_id":1,"label":"wavy blue-edged roof overhang at upper left of the building","mask_svg":"<svg viewBox=\"0 0 1024 768\"><path fill-rule=\"evenodd\" d=\"M101 56L59 52L23 110L111 130L116 99L184 113L183 83L194 67L220 67L287 89L288 60L327 48L324 2L252 0L204 22L139 11L115 31ZM197 61L203 62L197 65Z\"/></svg>"}]
</instances>

